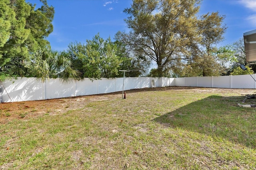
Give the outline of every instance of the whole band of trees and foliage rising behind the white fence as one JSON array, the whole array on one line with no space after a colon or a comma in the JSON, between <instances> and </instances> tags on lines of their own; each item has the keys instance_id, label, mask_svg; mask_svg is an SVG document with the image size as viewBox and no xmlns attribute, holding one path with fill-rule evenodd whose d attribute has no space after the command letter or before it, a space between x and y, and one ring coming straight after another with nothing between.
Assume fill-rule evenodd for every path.
<instances>
[{"instance_id":1,"label":"whole band of trees and foliage rising behind the white fence","mask_svg":"<svg viewBox=\"0 0 256 170\"><path fill-rule=\"evenodd\" d=\"M244 74L243 39L217 47L225 16L198 15L200 0L133 0L125 20L130 32L114 41L98 33L86 43L71 42L66 51L51 49L54 7L36 8L25 0L0 2L0 80L8 76L100 79L126 76L192 77ZM156 68L155 68L156 67ZM256 71L255 65L247 65ZM250 69L250 68L252 69ZM253 73L253 72L250 72Z\"/></svg>"}]
</instances>

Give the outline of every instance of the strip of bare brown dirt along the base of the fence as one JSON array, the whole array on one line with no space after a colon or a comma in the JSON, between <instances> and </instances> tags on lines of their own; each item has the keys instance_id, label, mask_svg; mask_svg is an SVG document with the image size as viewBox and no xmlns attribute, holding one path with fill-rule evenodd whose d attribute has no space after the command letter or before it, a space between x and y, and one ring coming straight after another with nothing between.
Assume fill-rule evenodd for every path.
<instances>
[{"instance_id":1,"label":"strip of bare brown dirt along the base of the fence","mask_svg":"<svg viewBox=\"0 0 256 170\"><path fill-rule=\"evenodd\" d=\"M162 87L132 89L126 91L127 98L132 93L146 91L195 91L197 93L236 93L237 96L254 94L255 89L216 89L216 88L195 88L195 87ZM94 101L108 101L112 99L122 99L122 91L101 95L89 95L79 97L68 97L61 99L49 99L41 101L23 101L13 103L0 103L0 123L8 123L14 119L29 119L42 115L60 115L69 110L83 109ZM127 100L127 99L125 99Z\"/></svg>"}]
</instances>

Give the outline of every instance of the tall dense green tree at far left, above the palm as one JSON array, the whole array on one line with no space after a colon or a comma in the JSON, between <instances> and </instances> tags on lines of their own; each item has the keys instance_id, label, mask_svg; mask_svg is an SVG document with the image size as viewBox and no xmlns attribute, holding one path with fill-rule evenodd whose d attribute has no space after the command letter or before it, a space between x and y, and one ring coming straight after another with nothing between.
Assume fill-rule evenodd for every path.
<instances>
[{"instance_id":1,"label":"tall dense green tree at far left, above the palm","mask_svg":"<svg viewBox=\"0 0 256 170\"><path fill-rule=\"evenodd\" d=\"M43 5L35 10L35 5L25 0L3 0L0 9L5 10L7 29L0 35L8 35L0 45L0 74L26 76L25 67L30 61L30 54L39 47L49 44L45 38L52 32L54 8L48 6L46 0L40 0ZM2 14L2 13L1 13ZM8 27L10 23L10 28ZM15 68L16 67L16 68ZM19 71L14 71L19 70Z\"/></svg>"}]
</instances>

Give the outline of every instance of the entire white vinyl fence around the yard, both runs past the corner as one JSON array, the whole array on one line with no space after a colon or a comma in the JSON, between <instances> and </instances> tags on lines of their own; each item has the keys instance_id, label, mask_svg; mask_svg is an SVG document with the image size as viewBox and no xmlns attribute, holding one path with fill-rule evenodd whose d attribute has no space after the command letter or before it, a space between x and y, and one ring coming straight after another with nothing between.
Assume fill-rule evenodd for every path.
<instances>
[{"instance_id":1,"label":"entire white vinyl fence around the yard, both runs past the corner","mask_svg":"<svg viewBox=\"0 0 256 170\"><path fill-rule=\"evenodd\" d=\"M252 77L256 79L255 74ZM84 79L69 83L63 83L61 79L50 79L42 83L36 78L18 77L0 85L0 103L112 93L122 91L123 82L124 91L166 86L255 89L256 82L252 77L250 75L182 78L125 77L124 79L102 78L94 81Z\"/></svg>"}]
</instances>

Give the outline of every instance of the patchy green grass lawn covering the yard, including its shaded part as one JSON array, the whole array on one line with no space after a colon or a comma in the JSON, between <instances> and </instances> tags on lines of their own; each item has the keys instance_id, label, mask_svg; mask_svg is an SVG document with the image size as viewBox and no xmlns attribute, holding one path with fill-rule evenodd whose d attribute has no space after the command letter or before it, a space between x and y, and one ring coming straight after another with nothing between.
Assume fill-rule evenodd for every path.
<instances>
[{"instance_id":1,"label":"patchy green grass lawn covering the yard, including its shaded part","mask_svg":"<svg viewBox=\"0 0 256 170\"><path fill-rule=\"evenodd\" d=\"M256 109L238 107L242 91L142 89L34 109L0 125L0 169L256 169Z\"/></svg>"}]
</instances>

